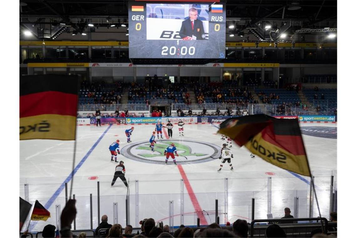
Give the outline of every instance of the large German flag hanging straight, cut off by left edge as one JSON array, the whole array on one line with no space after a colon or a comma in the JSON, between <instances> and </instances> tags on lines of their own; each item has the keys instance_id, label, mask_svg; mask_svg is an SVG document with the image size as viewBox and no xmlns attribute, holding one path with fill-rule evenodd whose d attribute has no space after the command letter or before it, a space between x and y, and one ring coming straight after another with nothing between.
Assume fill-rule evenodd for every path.
<instances>
[{"instance_id":1,"label":"large German flag hanging straight, cut off by left edge","mask_svg":"<svg viewBox=\"0 0 357 238\"><path fill-rule=\"evenodd\" d=\"M20 140L75 140L78 77L20 77Z\"/></svg>"}]
</instances>

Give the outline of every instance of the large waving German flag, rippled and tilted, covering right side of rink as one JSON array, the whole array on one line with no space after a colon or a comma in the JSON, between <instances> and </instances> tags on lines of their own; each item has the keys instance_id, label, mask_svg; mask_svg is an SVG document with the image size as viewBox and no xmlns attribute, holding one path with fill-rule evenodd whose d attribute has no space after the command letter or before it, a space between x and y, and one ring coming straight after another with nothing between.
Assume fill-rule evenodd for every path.
<instances>
[{"instance_id":1,"label":"large waving German flag, rippled and tilted, covering right side of rink","mask_svg":"<svg viewBox=\"0 0 357 238\"><path fill-rule=\"evenodd\" d=\"M219 133L280 168L311 176L297 120L264 114L227 119Z\"/></svg>"}]
</instances>

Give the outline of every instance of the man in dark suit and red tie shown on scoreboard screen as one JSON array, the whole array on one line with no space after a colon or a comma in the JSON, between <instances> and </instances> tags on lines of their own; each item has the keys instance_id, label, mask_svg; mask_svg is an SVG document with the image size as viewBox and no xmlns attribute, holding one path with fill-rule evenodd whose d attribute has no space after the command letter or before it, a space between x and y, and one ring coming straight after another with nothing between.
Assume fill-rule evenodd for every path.
<instances>
[{"instance_id":1,"label":"man in dark suit and red tie shown on scoreboard screen","mask_svg":"<svg viewBox=\"0 0 357 238\"><path fill-rule=\"evenodd\" d=\"M182 21L180 36L183 40L205 40L203 22L197 19L198 11L194 7L188 10L190 18Z\"/></svg>"}]
</instances>

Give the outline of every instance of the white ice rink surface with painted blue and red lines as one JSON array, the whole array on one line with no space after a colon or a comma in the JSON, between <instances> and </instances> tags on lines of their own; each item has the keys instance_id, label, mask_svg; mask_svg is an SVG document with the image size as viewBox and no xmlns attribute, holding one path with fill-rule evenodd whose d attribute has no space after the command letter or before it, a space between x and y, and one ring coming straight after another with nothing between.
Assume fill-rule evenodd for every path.
<instances>
[{"instance_id":1,"label":"white ice rink surface with painted blue and red lines","mask_svg":"<svg viewBox=\"0 0 357 238\"><path fill-rule=\"evenodd\" d=\"M220 223L236 219L251 221L251 199L255 198L255 219L266 219L268 213L268 180L271 177L271 213L274 218L284 216L284 208L294 208L298 197L298 216L308 217L310 178L290 173L265 162L251 158L245 147L234 144L230 171L225 163L222 172L217 169L223 143L217 128L210 124L185 125L185 136L178 135L174 125L173 138L157 140L154 153L150 152L149 138L154 125L134 125L132 143L126 142L124 131L131 125L77 126L75 176L72 194L77 200L76 229L90 228L90 194L92 194L93 227L97 227L97 186L100 187L100 216L107 214L113 224L113 203L118 204L118 222L125 226L125 199L127 189L120 179L110 186L118 163L110 161L109 145L120 140L125 177L129 180L130 224L139 227L139 221L152 217L156 222L169 224L169 201L174 210L174 225L193 225L197 217L201 224L214 221L215 199L218 199ZM337 124L301 123L303 140L315 185L321 215L328 218L331 175L337 181ZM165 165L163 150L172 142L178 148L178 165ZM29 199L44 205L51 212L46 222L31 222L32 231L42 231L46 224L56 224L56 205L65 205L64 183L72 172L73 141L20 141L20 196L25 198L28 184ZM137 181L137 182L136 182ZM225 186L226 184L226 186ZM183 193L181 192L183 191ZM69 193L69 191L68 191ZM226 199L225 199L226 198ZM226 203L225 203L226 201ZM318 216L316 201L314 217ZM226 213L226 214L225 214ZM181 216L183 214L183 216ZM293 214L294 215L294 214ZM25 227L25 226L24 226ZM73 227L73 226L72 226Z\"/></svg>"}]
</instances>

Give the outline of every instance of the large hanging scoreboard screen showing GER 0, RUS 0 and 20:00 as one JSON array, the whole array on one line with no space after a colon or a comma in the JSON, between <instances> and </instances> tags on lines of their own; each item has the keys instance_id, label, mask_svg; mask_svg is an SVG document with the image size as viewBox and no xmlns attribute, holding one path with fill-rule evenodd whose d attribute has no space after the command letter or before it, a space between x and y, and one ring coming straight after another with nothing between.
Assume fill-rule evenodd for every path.
<instances>
[{"instance_id":1,"label":"large hanging scoreboard screen showing GER 0, RUS 0 and 20:00","mask_svg":"<svg viewBox=\"0 0 357 238\"><path fill-rule=\"evenodd\" d=\"M129 2L129 57L224 59L223 3Z\"/></svg>"}]
</instances>

